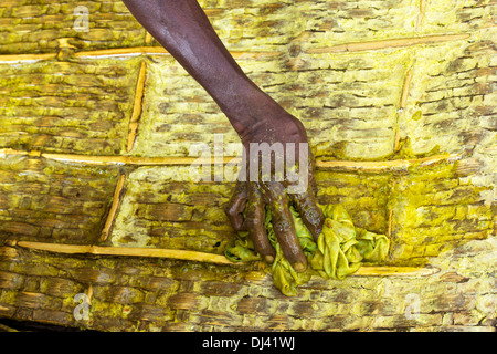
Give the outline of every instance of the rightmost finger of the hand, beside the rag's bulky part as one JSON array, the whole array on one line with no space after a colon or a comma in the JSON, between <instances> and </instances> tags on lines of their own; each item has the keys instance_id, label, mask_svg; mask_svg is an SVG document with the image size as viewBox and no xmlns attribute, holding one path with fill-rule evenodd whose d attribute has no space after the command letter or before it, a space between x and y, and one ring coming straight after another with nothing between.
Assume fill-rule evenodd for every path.
<instances>
[{"instance_id":1,"label":"rightmost finger of the hand, beside the rag's bulky part","mask_svg":"<svg viewBox=\"0 0 497 354\"><path fill-rule=\"evenodd\" d=\"M302 220L313 233L314 239L317 240L319 233L321 233L322 225L325 223L325 215L317 205L314 194L307 190L303 194L292 195L292 199Z\"/></svg>"}]
</instances>

